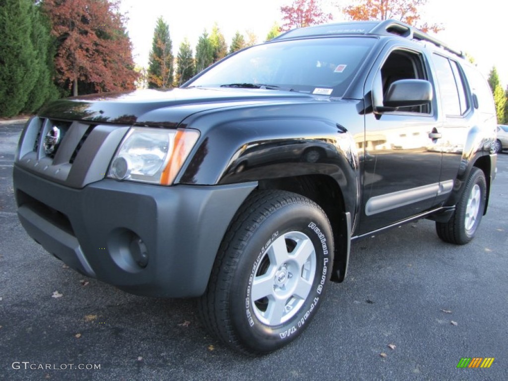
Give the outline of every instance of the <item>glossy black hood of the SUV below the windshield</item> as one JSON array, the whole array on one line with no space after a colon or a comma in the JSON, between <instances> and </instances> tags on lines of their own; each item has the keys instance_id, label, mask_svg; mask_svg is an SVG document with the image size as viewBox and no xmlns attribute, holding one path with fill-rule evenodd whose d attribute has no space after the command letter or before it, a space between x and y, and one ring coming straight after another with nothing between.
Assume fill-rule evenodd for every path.
<instances>
[{"instance_id":1,"label":"glossy black hood of the SUV below the windshield","mask_svg":"<svg viewBox=\"0 0 508 381\"><path fill-rule=\"evenodd\" d=\"M252 104L308 102L309 94L239 88L174 88L91 94L65 98L44 106L39 115L99 123L177 126L194 113Z\"/></svg>"}]
</instances>

